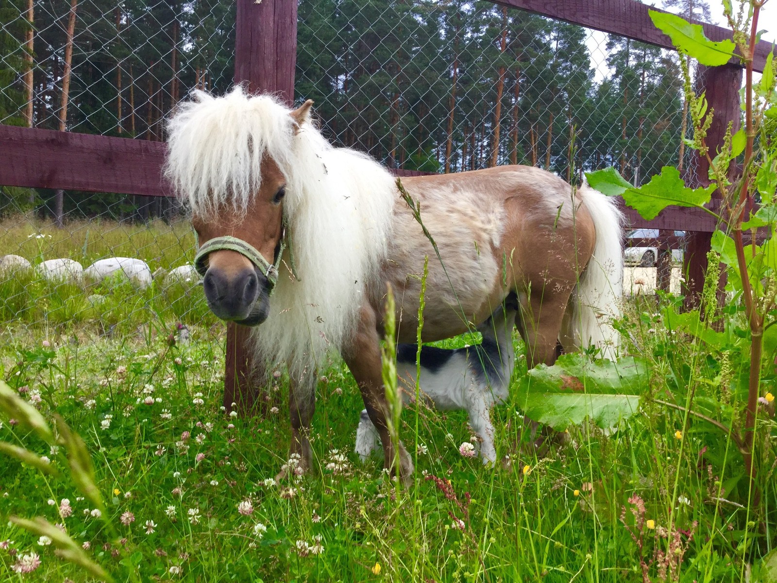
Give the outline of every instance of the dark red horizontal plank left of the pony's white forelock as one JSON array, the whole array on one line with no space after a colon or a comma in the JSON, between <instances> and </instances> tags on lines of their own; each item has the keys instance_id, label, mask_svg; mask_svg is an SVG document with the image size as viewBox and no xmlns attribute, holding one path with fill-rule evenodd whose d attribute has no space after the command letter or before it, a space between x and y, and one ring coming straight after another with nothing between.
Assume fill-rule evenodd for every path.
<instances>
[{"instance_id":1,"label":"dark red horizontal plank left of the pony's white forelock","mask_svg":"<svg viewBox=\"0 0 777 583\"><path fill-rule=\"evenodd\" d=\"M166 145L0 125L0 184L169 196Z\"/></svg>"}]
</instances>

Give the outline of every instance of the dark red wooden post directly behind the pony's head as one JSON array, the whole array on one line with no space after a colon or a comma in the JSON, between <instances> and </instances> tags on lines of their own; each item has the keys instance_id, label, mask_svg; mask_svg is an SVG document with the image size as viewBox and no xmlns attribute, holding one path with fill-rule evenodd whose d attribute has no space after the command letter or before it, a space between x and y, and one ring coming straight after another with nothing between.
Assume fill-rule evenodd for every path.
<instances>
[{"instance_id":1,"label":"dark red wooden post directly behind the pony's head","mask_svg":"<svg viewBox=\"0 0 777 583\"><path fill-rule=\"evenodd\" d=\"M238 0L235 35L235 83L246 83L252 93L278 93L291 105L297 64L297 0ZM232 403L237 403L241 414L257 404L261 378L251 374L248 335L246 326L227 325L224 406L231 411Z\"/></svg>"}]
</instances>

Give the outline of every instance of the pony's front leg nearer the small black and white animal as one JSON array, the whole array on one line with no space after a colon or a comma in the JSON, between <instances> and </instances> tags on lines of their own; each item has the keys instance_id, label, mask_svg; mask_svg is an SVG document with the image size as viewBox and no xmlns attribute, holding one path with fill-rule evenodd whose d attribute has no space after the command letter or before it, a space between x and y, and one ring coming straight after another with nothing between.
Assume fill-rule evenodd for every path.
<instances>
[{"instance_id":1,"label":"pony's front leg nearer the small black and white animal","mask_svg":"<svg viewBox=\"0 0 777 583\"><path fill-rule=\"evenodd\" d=\"M389 403L386 401L383 387L381 344L377 330L377 314L367 302L359 312L359 323L350 348L343 353L343 360L354 375L364 408L370 421L378 430L383 445L383 466L394 466L395 451L386 418L389 416ZM399 477L409 480L413 473L413 460L399 442Z\"/></svg>"}]
</instances>

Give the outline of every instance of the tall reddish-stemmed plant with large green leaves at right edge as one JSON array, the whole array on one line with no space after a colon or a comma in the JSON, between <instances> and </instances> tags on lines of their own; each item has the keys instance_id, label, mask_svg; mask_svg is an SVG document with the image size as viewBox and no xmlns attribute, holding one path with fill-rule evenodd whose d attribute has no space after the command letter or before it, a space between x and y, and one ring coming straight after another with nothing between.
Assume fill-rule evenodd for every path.
<instances>
[{"instance_id":1,"label":"tall reddish-stemmed plant with large green leaves at right edge","mask_svg":"<svg viewBox=\"0 0 777 583\"><path fill-rule=\"evenodd\" d=\"M726 351L732 358L740 357L740 365L747 373L744 428L739 431L735 428L734 417L726 426L713 417L694 412L690 402L679 408L727 431L742 452L749 477L747 497L755 506L759 503L758 397L764 374L772 374L765 372L765 365L773 361L777 351L777 240L773 236L777 228L777 141L774 138L777 105L773 51L765 59L760 81L755 82L753 78L755 48L760 37L758 15L764 3L765 0L742 2L735 11L730 0L723 0L723 12L733 35L732 40L720 42L709 40L700 25L665 12L650 11L653 23L671 37L680 54L693 129L692 138L683 136L683 139L708 163L708 185L687 187L678 170L671 166L664 166L659 175L642 187L629 184L612 168L587 173L592 187L608 195L621 195L625 204L647 220L669 206L699 208L716 218L718 230L713 234L712 243L716 255L710 264L720 257L726 266L728 290L740 301L741 307L726 306L729 317L718 323L717 330L711 330L709 321L716 318L713 298L717 278L708 277L706 292L702 293L702 309L686 314L674 311L667 313L667 319L709 347ZM707 143L707 131L715 112L704 93L697 95L693 91L689 61L695 59L702 65L719 66L732 58L738 59L745 70L744 127L733 131L733 122L730 122L723 144L713 150ZM713 211L708 203L716 191L722 204L718 211ZM750 233L748 245L744 242L744 232Z\"/></svg>"}]
</instances>

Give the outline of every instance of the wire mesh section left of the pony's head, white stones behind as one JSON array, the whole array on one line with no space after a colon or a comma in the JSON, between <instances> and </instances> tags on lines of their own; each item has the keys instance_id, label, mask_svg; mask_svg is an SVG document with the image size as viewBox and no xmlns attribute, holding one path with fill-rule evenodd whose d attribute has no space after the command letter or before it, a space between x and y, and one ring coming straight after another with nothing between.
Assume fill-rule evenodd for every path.
<instances>
[{"instance_id":1,"label":"wire mesh section left of the pony's head, white stones behind","mask_svg":"<svg viewBox=\"0 0 777 583\"><path fill-rule=\"evenodd\" d=\"M230 2L10 0L0 20L0 124L162 141L190 89L232 83ZM194 244L172 199L0 187L0 343L214 323Z\"/></svg>"}]
</instances>

